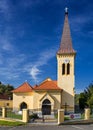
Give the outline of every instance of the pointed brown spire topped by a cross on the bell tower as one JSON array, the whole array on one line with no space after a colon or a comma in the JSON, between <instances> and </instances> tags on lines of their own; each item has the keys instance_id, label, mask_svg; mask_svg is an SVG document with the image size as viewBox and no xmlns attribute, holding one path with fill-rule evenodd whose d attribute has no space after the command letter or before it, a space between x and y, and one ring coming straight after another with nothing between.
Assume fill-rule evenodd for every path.
<instances>
[{"instance_id":1,"label":"pointed brown spire topped by a cross on the bell tower","mask_svg":"<svg viewBox=\"0 0 93 130\"><path fill-rule=\"evenodd\" d=\"M68 21L68 8L67 7L65 8L65 20L64 20L60 48L57 53L58 54L75 53L72 46L72 38L71 38L71 33L70 33L69 21Z\"/></svg>"}]
</instances>

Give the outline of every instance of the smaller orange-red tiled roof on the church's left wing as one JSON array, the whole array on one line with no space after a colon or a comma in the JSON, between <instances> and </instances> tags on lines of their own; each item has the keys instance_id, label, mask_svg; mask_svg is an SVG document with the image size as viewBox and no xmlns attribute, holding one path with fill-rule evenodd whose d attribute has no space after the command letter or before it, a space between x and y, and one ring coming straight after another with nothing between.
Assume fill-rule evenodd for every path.
<instances>
[{"instance_id":1,"label":"smaller orange-red tiled roof on the church's left wing","mask_svg":"<svg viewBox=\"0 0 93 130\"><path fill-rule=\"evenodd\" d=\"M20 93L20 92L32 92L32 91L33 91L32 86L30 86L27 82L25 82L21 86L19 86L18 88L14 89L12 92Z\"/></svg>"}]
</instances>

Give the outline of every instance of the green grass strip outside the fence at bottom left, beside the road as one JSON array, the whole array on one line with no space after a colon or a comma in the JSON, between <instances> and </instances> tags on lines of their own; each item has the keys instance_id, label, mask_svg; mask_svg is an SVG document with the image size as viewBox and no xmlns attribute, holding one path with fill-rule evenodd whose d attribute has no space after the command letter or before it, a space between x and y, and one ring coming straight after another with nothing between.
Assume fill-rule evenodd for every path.
<instances>
[{"instance_id":1,"label":"green grass strip outside the fence at bottom left, beside the road","mask_svg":"<svg viewBox=\"0 0 93 130\"><path fill-rule=\"evenodd\" d=\"M26 125L26 123L19 122L19 121L0 120L0 126L20 126L20 125Z\"/></svg>"}]
</instances>

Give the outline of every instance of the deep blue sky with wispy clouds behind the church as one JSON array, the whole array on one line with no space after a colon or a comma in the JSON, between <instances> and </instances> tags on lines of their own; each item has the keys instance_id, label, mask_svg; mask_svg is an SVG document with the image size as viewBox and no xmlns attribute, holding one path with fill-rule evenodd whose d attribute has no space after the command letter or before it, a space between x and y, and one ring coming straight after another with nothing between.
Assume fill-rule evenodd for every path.
<instances>
[{"instance_id":1,"label":"deep blue sky with wispy clouds behind the church","mask_svg":"<svg viewBox=\"0 0 93 130\"><path fill-rule=\"evenodd\" d=\"M0 0L0 81L18 87L57 80L59 49L68 7L76 93L93 82L93 0Z\"/></svg>"}]
</instances>

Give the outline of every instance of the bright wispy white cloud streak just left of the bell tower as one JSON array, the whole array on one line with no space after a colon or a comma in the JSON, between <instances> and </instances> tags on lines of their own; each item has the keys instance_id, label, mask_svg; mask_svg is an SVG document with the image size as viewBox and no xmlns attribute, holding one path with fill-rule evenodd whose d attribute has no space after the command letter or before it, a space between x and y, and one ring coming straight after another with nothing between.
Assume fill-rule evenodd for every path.
<instances>
[{"instance_id":1,"label":"bright wispy white cloud streak just left of the bell tower","mask_svg":"<svg viewBox=\"0 0 93 130\"><path fill-rule=\"evenodd\" d=\"M29 73L35 83L38 83L40 81L40 74L43 72L40 67L48 64L48 61L55 56L55 50L56 49L54 48L45 50L44 52L40 53L40 55L38 55L38 59L36 60L36 62L31 64L31 68L29 68Z\"/></svg>"}]
</instances>

